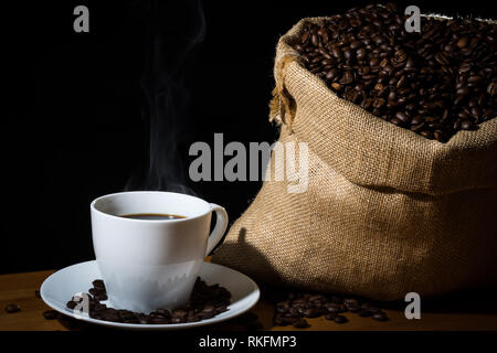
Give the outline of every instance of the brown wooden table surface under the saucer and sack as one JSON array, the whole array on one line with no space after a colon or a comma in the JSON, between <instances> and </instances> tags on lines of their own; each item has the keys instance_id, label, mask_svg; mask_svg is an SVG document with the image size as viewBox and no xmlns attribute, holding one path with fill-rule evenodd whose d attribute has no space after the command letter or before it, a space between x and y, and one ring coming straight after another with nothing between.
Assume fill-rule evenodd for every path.
<instances>
[{"instance_id":1,"label":"brown wooden table surface under the saucer and sack","mask_svg":"<svg viewBox=\"0 0 497 353\"><path fill-rule=\"evenodd\" d=\"M67 331L67 330L104 330L101 327L77 322L74 319L60 318L45 320L43 312L50 308L36 298L35 290L40 289L43 280L53 274L53 270L25 274L0 275L0 331L29 330L29 331ZM21 311L7 313L4 307L17 303ZM461 310L469 307L468 310ZM310 328L304 330L319 331L382 331L382 330L491 330L497 331L497 310L495 303L475 303L467 301L466 306L459 303L454 310L440 310L424 312L422 307L421 320L408 320L402 310L384 310L390 321L378 322L370 318L360 318L357 314L345 313L349 319L346 324L337 324L325 318L306 319ZM473 312L472 312L472 309ZM464 311L464 312L463 312ZM272 323L274 307L261 300L252 312L258 317L263 330L297 330L293 327L274 327ZM240 320L233 319L223 323L205 327L208 330L245 330ZM303 330L303 329L298 329Z\"/></svg>"}]
</instances>

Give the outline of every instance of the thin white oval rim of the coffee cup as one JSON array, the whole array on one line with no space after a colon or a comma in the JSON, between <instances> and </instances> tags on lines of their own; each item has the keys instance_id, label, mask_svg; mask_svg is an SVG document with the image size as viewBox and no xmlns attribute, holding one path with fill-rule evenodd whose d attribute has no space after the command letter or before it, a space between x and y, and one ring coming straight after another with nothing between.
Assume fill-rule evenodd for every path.
<instances>
[{"instance_id":1,"label":"thin white oval rim of the coffee cup","mask_svg":"<svg viewBox=\"0 0 497 353\"><path fill-rule=\"evenodd\" d=\"M114 214L105 213L105 212L98 210L97 207L95 207L95 204L98 201L101 201L103 199L112 197L112 196L117 196L117 195L123 195L123 194L158 194L158 193L160 193L160 194L175 194L175 195L181 195L181 196L184 196L184 197L195 199L197 201L200 201L200 202L204 203L208 206L208 211L203 212L203 213L201 213L201 214L199 214L197 216L193 216L193 217L150 221L150 220L138 220L138 218L120 217L120 216L116 216ZM102 196L96 197L95 200L93 200L89 203L89 208L91 208L91 211L97 212L98 214L102 214L103 216L106 216L106 217L118 218L118 220L124 221L124 222L135 222L135 223L146 223L146 224L165 224L165 223L169 224L169 223L178 223L178 222L188 222L188 221L192 221L192 220L204 217L207 214L212 212L212 205L209 202L207 202L205 200L197 197L197 196L193 196L193 195L182 194L182 193L179 193L179 192L170 192L170 191L123 191L123 192L115 192L115 193L112 193L112 194L106 194L106 195L102 195Z\"/></svg>"}]
</instances>

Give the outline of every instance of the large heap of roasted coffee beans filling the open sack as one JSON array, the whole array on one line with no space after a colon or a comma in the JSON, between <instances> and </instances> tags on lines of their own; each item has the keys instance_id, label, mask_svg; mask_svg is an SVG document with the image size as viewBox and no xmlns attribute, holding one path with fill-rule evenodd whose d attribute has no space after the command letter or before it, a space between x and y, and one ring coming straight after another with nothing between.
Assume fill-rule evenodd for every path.
<instances>
[{"instance_id":1,"label":"large heap of roasted coffee beans filling the open sack","mask_svg":"<svg viewBox=\"0 0 497 353\"><path fill-rule=\"evenodd\" d=\"M294 49L339 97L427 139L445 142L497 113L497 25L421 18L370 4L308 23Z\"/></svg>"}]
</instances>

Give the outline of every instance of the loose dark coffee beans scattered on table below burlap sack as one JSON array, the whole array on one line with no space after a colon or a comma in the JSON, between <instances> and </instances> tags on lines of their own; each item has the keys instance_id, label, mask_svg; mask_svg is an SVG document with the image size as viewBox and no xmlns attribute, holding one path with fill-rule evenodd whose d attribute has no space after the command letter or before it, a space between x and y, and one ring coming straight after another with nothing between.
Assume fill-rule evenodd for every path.
<instances>
[{"instance_id":1,"label":"loose dark coffee beans scattered on table below burlap sack","mask_svg":"<svg viewBox=\"0 0 497 353\"><path fill-rule=\"evenodd\" d=\"M368 301L356 298L342 298L335 295L309 292L273 291L268 298L275 304L275 325L294 325L298 329L309 327L306 318L325 317L335 323L346 323L345 312L356 313L361 318L388 321L387 314Z\"/></svg>"}]
</instances>

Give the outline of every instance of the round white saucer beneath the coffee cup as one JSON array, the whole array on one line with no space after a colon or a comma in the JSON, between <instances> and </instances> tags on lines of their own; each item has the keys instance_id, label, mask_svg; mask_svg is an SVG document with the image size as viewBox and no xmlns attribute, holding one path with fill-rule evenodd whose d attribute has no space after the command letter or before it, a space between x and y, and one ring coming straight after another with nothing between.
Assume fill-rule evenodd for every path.
<instances>
[{"instance_id":1,"label":"round white saucer beneath the coffee cup","mask_svg":"<svg viewBox=\"0 0 497 353\"><path fill-rule=\"evenodd\" d=\"M51 275L41 286L40 295L47 306L68 317L105 327L128 330L178 330L201 327L237 317L250 310L258 300L260 290L257 285L247 276L231 268L216 264L203 263L200 270L200 277L205 280L208 285L219 284L230 290L232 296L231 304L228 307L228 311L222 312L214 318L188 323L119 323L92 319L89 317L82 317L81 314L77 317L74 315L73 311L66 308L65 304L75 293L87 292L88 289L93 287L93 280L102 278L96 260L73 265ZM107 301L103 302L106 303L107 307L112 307L112 304Z\"/></svg>"}]
</instances>

